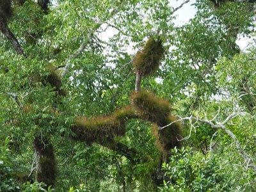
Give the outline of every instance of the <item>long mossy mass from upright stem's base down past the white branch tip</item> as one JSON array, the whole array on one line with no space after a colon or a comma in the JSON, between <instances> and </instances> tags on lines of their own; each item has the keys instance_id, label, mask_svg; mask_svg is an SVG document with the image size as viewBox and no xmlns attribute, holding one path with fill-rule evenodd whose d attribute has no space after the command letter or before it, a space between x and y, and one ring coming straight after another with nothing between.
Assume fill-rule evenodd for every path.
<instances>
[{"instance_id":1,"label":"long mossy mass from upright stem's base down past the white branch tip","mask_svg":"<svg viewBox=\"0 0 256 192\"><path fill-rule=\"evenodd\" d=\"M170 103L146 91L134 92L131 99L140 113L140 118L153 123L152 134L156 138L156 145L163 156L163 161L166 161L170 149L179 147L181 135L181 124L179 121L176 122L175 116L171 115ZM168 124L171 125L159 130L159 127Z\"/></svg>"}]
</instances>

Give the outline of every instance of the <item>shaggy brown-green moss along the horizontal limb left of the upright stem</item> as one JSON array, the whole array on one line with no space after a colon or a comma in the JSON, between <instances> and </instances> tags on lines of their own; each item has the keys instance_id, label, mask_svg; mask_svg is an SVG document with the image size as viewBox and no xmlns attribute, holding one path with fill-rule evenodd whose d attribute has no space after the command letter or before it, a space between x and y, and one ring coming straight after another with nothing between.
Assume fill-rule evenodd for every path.
<instances>
[{"instance_id":1,"label":"shaggy brown-green moss along the horizontal limb left of the upright stem","mask_svg":"<svg viewBox=\"0 0 256 192\"><path fill-rule=\"evenodd\" d=\"M76 139L86 143L109 141L115 136L125 134L125 121L136 118L132 106L116 110L112 115L98 116L96 118L76 117L72 131Z\"/></svg>"}]
</instances>

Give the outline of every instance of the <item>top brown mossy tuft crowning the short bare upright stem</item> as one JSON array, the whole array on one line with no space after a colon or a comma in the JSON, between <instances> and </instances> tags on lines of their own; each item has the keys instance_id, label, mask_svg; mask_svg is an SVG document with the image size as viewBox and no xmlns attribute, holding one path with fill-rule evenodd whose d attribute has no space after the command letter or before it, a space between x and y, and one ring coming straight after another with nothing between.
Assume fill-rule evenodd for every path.
<instances>
[{"instance_id":1,"label":"top brown mossy tuft crowning the short bare upright stem","mask_svg":"<svg viewBox=\"0 0 256 192\"><path fill-rule=\"evenodd\" d=\"M143 76L148 76L159 68L163 54L164 48L161 40L150 37L144 48L137 52L133 65L137 72L140 72Z\"/></svg>"}]
</instances>

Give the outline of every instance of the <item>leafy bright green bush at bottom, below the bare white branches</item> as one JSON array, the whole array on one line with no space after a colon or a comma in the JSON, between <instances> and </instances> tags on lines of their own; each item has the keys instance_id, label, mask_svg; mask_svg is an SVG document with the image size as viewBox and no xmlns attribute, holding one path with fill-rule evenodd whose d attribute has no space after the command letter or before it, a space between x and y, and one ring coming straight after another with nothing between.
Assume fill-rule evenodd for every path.
<instances>
[{"instance_id":1,"label":"leafy bright green bush at bottom, below the bare white branches","mask_svg":"<svg viewBox=\"0 0 256 192\"><path fill-rule=\"evenodd\" d=\"M229 179L214 155L184 147L171 152L170 163L163 164L165 180L159 191L229 191Z\"/></svg>"}]
</instances>

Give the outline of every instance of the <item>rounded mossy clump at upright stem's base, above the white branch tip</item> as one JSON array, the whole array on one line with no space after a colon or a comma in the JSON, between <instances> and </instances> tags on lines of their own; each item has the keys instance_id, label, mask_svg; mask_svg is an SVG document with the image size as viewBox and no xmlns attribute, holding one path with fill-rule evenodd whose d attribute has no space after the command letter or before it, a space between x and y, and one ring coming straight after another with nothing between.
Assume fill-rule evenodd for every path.
<instances>
[{"instance_id":1,"label":"rounded mossy clump at upright stem's base, above the white branch tip","mask_svg":"<svg viewBox=\"0 0 256 192\"><path fill-rule=\"evenodd\" d=\"M131 99L143 119L157 124L165 124L171 111L168 101L155 97L153 93L147 91L134 92Z\"/></svg>"}]
</instances>

